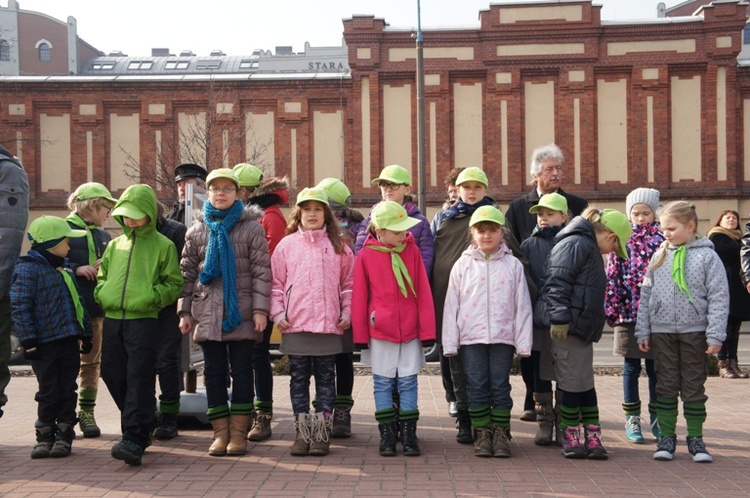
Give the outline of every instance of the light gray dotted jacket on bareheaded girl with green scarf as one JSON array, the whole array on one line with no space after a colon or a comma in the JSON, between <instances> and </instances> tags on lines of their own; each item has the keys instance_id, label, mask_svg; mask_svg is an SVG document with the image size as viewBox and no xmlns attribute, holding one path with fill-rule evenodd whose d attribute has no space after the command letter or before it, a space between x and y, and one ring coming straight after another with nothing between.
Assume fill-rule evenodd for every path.
<instances>
[{"instance_id":1,"label":"light gray dotted jacket on bareheaded girl with green scarf","mask_svg":"<svg viewBox=\"0 0 750 498\"><path fill-rule=\"evenodd\" d=\"M653 333L706 332L710 345L721 346L726 338L729 316L729 285L724 265L705 237L687 244L685 278L693 300L680 292L672 280L672 260L677 247L669 245L654 254L656 270L649 269L641 286L641 301L635 335L642 344Z\"/></svg>"}]
</instances>

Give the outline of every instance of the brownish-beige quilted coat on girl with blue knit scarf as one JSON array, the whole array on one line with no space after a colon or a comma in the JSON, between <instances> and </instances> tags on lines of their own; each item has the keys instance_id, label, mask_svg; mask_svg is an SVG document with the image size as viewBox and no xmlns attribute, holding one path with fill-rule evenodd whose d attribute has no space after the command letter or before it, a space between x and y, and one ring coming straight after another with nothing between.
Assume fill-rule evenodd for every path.
<instances>
[{"instance_id":1,"label":"brownish-beige quilted coat on girl with blue knit scarf","mask_svg":"<svg viewBox=\"0 0 750 498\"><path fill-rule=\"evenodd\" d=\"M266 232L257 221L261 216L263 211L260 208L247 206L229 232L237 266L237 305L242 315L242 324L231 332L221 330L224 320L222 280L217 279L204 286L198 278L206 259L209 234L202 213L196 215L196 221L188 229L180 261L185 286L177 309L180 315L189 313L196 322L195 342L262 339L262 334L255 332L253 313L268 315L271 259Z\"/></svg>"}]
</instances>

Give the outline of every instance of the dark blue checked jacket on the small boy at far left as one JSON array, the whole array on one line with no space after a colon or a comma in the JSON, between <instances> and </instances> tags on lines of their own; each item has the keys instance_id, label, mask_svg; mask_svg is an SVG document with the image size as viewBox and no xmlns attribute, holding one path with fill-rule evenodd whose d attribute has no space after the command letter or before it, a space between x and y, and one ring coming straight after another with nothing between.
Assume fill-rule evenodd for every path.
<instances>
[{"instance_id":1,"label":"dark blue checked jacket on the small boy at far left","mask_svg":"<svg viewBox=\"0 0 750 498\"><path fill-rule=\"evenodd\" d=\"M66 268L73 277L70 268ZM86 304L79 299L84 309L84 325L76 319L76 310L62 275L36 251L22 256L11 277L11 317L21 342L36 341L39 344L58 341L68 337L91 337L91 321Z\"/></svg>"}]
</instances>

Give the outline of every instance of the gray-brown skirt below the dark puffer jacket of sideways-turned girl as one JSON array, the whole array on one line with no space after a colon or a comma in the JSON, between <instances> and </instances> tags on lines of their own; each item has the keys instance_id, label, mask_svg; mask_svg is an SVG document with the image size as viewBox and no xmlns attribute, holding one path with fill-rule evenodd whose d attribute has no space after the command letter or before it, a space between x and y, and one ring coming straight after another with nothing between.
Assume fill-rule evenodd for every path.
<instances>
[{"instance_id":1,"label":"gray-brown skirt below the dark puffer jacket of sideways-turned girl","mask_svg":"<svg viewBox=\"0 0 750 498\"><path fill-rule=\"evenodd\" d=\"M557 387L572 393L593 389L594 345L570 334L564 341L551 342Z\"/></svg>"}]
</instances>

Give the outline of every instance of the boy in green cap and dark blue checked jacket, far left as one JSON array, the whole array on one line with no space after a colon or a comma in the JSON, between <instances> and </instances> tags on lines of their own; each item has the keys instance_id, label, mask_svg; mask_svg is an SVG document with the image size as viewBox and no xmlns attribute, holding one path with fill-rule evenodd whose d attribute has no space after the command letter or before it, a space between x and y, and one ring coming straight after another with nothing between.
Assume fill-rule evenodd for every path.
<instances>
[{"instance_id":1,"label":"boy in green cap and dark blue checked jacket, far left","mask_svg":"<svg viewBox=\"0 0 750 498\"><path fill-rule=\"evenodd\" d=\"M76 377L80 354L91 351L92 333L65 257L70 238L85 236L85 231L72 230L62 218L37 218L29 226L31 250L11 277L13 323L39 383L37 444L31 458L66 457L75 437Z\"/></svg>"}]
</instances>

